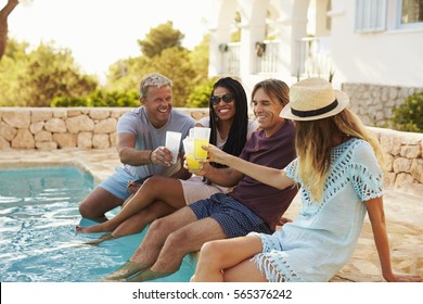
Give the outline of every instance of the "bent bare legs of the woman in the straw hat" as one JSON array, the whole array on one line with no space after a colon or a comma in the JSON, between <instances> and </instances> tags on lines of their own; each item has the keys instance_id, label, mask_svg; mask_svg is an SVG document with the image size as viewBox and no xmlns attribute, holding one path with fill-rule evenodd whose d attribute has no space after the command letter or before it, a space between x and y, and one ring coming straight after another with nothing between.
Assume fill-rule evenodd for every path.
<instances>
[{"instance_id":1,"label":"bent bare legs of the woman in the straw hat","mask_svg":"<svg viewBox=\"0 0 423 304\"><path fill-rule=\"evenodd\" d=\"M207 242L202 246L192 282L266 281L249 261L261 252L258 237L241 237Z\"/></svg>"}]
</instances>

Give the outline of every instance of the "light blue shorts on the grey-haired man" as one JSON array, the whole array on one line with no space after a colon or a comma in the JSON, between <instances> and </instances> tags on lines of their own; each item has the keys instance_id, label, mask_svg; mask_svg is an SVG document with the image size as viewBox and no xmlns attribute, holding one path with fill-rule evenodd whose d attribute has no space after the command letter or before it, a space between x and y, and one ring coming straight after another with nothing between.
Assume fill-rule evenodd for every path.
<instances>
[{"instance_id":1,"label":"light blue shorts on the grey-haired man","mask_svg":"<svg viewBox=\"0 0 423 304\"><path fill-rule=\"evenodd\" d=\"M117 167L116 172L110 176L107 179L102 181L99 187L111 192L113 195L119 198L120 200L126 200L131 194L128 191L128 181L137 180L138 177L130 175L124 168Z\"/></svg>"}]
</instances>

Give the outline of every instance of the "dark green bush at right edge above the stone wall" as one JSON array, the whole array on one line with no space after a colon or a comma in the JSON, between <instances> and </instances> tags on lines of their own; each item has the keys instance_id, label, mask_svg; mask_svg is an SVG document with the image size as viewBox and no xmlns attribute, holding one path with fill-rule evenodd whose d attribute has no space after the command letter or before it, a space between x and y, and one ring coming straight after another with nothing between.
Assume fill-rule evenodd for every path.
<instances>
[{"instance_id":1,"label":"dark green bush at right edge above the stone wall","mask_svg":"<svg viewBox=\"0 0 423 304\"><path fill-rule=\"evenodd\" d=\"M393 128L400 131L423 132L423 92L409 96L393 110Z\"/></svg>"}]
</instances>

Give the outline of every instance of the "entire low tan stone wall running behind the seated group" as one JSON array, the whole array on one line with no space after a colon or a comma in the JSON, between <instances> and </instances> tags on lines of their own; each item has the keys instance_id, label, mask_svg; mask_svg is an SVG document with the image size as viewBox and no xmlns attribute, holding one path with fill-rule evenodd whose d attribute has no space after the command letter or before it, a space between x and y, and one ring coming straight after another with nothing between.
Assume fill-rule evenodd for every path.
<instances>
[{"instance_id":1,"label":"entire low tan stone wall running behind the seated group","mask_svg":"<svg viewBox=\"0 0 423 304\"><path fill-rule=\"evenodd\" d=\"M129 110L0 107L0 150L115 147L117 121ZM194 119L208 115L208 109L180 109L180 111ZM423 195L423 134L399 132L374 127L371 129L377 135L387 154L384 167L385 186L411 190Z\"/></svg>"}]
</instances>

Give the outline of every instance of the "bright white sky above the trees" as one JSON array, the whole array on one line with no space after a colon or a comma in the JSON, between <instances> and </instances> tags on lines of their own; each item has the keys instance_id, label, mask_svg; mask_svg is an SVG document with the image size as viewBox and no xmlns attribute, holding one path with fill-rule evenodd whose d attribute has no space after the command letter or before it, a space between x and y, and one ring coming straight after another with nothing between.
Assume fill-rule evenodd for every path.
<instances>
[{"instance_id":1,"label":"bright white sky above the trees","mask_svg":"<svg viewBox=\"0 0 423 304\"><path fill-rule=\"evenodd\" d=\"M24 0L23 0L24 1ZM9 16L9 37L33 47L68 48L82 71L104 77L108 65L140 55L138 39L167 21L192 49L207 33L210 0L25 0ZM7 0L0 0L3 8Z\"/></svg>"}]
</instances>

